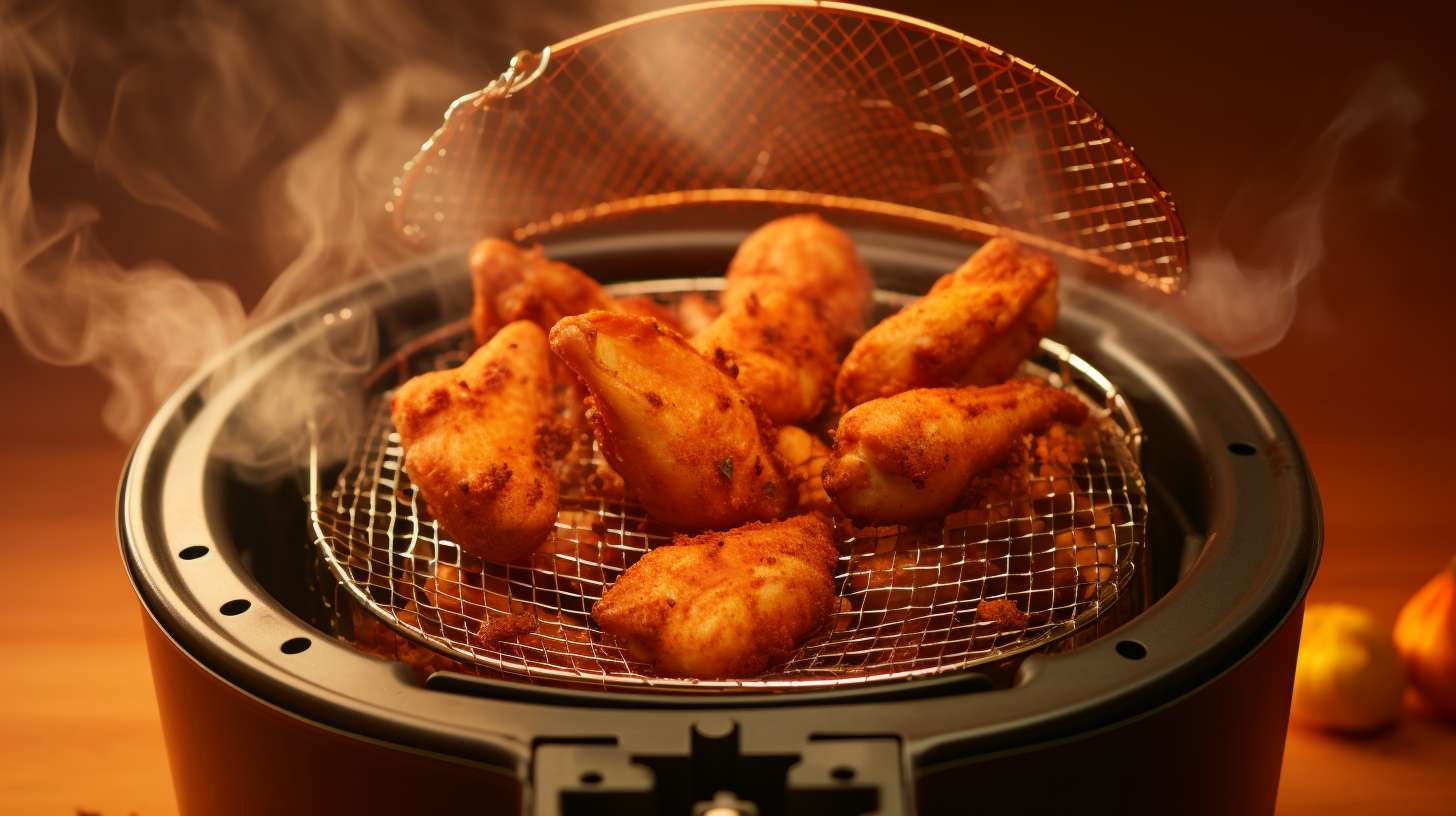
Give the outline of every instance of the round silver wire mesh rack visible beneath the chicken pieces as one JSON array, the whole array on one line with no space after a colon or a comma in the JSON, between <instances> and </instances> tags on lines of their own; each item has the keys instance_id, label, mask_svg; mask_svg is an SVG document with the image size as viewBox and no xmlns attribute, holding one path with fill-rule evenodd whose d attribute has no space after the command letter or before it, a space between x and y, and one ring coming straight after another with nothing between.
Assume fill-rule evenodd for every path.
<instances>
[{"instance_id":1,"label":"round silver wire mesh rack visible beneath the chicken pieces","mask_svg":"<svg viewBox=\"0 0 1456 816\"><path fill-rule=\"evenodd\" d=\"M711 297L721 286L722 278L687 278L612 289L671 305L686 291ZM881 293L879 302L907 299ZM837 609L786 663L751 679L657 676L604 635L590 612L617 576L670 544L673 532L600 478L604 462L594 446L568 468L552 536L515 564L462 554L441 538L409 482L383 391L462 363L467 335L464 323L446 326L379 369L371 424L332 487L314 459L310 495L314 538L341 587L408 641L459 662L457 669L610 689L839 688L1006 660L1139 602L1128 587L1146 571L1140 425L1109 380L1066 347L1042 341L1024 373L1069 388L1095 408L1075 462L1059 462L1045 442L1031 444L1015 484L987 490L983 501L938 525L853 529L840 522ZM1002 603L986 603L993 600ZM1015 603L1009 616L1006 602Z\"/></svg>"}]
</instances>

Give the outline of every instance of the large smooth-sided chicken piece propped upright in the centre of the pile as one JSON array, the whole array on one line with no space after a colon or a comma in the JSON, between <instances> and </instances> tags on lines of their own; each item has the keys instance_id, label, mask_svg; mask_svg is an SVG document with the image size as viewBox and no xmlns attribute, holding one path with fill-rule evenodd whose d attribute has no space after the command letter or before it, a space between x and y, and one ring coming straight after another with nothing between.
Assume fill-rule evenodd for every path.
<instances>
[{"instance_id":1,"label":"large smooth-sided chicken piece propped upright in the centre of the pile","mask_svg":"<svg viewBox=\"0 0 1456 816\"><path fill-rule=\"evenodd\" d=\"M558 322L550 345L591 391L597 444L654 519L725 529L789 511L773 430L681 335L646 318L590 312Z\"/></svg>"}]
</instances>

